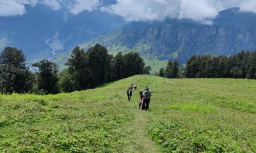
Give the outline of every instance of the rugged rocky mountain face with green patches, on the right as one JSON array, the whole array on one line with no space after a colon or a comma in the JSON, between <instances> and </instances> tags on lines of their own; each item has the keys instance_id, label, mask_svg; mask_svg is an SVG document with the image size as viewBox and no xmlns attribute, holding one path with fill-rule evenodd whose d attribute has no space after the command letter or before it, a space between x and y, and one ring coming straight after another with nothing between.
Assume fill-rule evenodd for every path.
<instances>
[{"instance_id":1,"label":"rugged rocky mountain face with green patches, on the right","mask_svg":"<svg viewBox=\"0 0 256 153\"><path fill-rule=\"evenodd\" d=\"M221 11L212 25L166 19L153 23L132 22L114 33L88 41L85 48L101 43L110 51L111 48L115 48L115 52L134 50L144 57L177 59L184 63L192 55L232 55L241 50L256 50L256 15L232 8ZM106 40L106 35L114 36Z\"/></svg>"}]
</instances>

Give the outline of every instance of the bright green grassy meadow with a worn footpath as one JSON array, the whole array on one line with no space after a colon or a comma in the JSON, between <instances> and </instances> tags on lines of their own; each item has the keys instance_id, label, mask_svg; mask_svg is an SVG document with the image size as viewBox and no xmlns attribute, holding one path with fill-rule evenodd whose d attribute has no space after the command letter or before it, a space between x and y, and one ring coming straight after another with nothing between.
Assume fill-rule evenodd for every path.
<instances>
[{"instance_id":1,"label":"bright green grassy meadow with a worn footpath","mask_svg":"<svg viewBox=\"0 0 256 153\"><path fill-rule=\"evenodd\" d=\"M150 111L138 110L149 85ZM255 152L256 80L138 75L93 90L0 95L0 152Z\"/></svg>"}]
</instances>

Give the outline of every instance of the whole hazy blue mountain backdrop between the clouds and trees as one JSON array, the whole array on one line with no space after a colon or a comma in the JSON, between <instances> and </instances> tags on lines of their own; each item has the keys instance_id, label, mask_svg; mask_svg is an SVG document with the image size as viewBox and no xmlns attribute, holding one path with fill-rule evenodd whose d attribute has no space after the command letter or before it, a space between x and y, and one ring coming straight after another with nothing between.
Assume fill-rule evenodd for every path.
<instances>
[{"instance_id":1,"label":"whole hazy blue mountain backdrop between the clouds and trees","mask_svg":"<svg viewBox=\"0 0 256 153\"><path fill-rule=\"evenodd\" d=\"M115 3L102 1L106 6ZM40 59L63 64L72 47L89 48L95 43L105 45L112 54L140 52L146 64L154 61L161 66L164 64L160 61L164 60L185 63L192 55L232 55L256 50L256 14L243 11L244 8L230 8L216 17L208 15L209 18L178 19L168 15L161 21L162 16L150 19L150 15L137 20L114 10L114 6L111 11L115 13L101 8L77 14L65 7L52 10L45 4L24 6L24 15L0 17L0 49L22 49L29 64ZM181 12L179 15L186 15Z\"/></svg>"}]
</instances>

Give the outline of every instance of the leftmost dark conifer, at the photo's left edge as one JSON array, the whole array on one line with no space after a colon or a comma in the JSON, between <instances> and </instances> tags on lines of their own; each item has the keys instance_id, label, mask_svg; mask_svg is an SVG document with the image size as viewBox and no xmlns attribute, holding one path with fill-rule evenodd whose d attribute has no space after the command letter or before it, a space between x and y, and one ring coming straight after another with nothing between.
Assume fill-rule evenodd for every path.
<instances>
[{"instance_id":1,"label":"leftmost dark conifer, at the photo's left edge","mask_svg":"<svg viewBox=\"0 0 256 153\"><path fill-rule=\"evenodd\" d=\"M22 50L6 47L0 54L0 92L29 92L33 87L34 75L25 63Z\"/></svg>"}]
</instances>

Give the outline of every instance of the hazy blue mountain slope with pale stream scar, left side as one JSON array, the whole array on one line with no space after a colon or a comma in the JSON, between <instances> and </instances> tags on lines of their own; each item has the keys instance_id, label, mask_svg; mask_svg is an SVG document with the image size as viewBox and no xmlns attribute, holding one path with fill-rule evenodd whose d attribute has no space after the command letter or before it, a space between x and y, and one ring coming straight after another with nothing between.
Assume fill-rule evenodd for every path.
<instances>
[{"instance_id":1,"label":"hazy blue mountain slope with pale stream scar, left side","mask_svg":"<svg viewBox=\"0 0 256 153\"><path fill-rule=\"evenodd\" d=\"M100 10L74 15L64 7L52 10L43 4L26 4L25 8L22 16L0 17L0 49L6 46L22 49L29 64L43 58L53 59L58 52L67 52L126 24L122 17Z\"/></svg>"}]
</instances>

